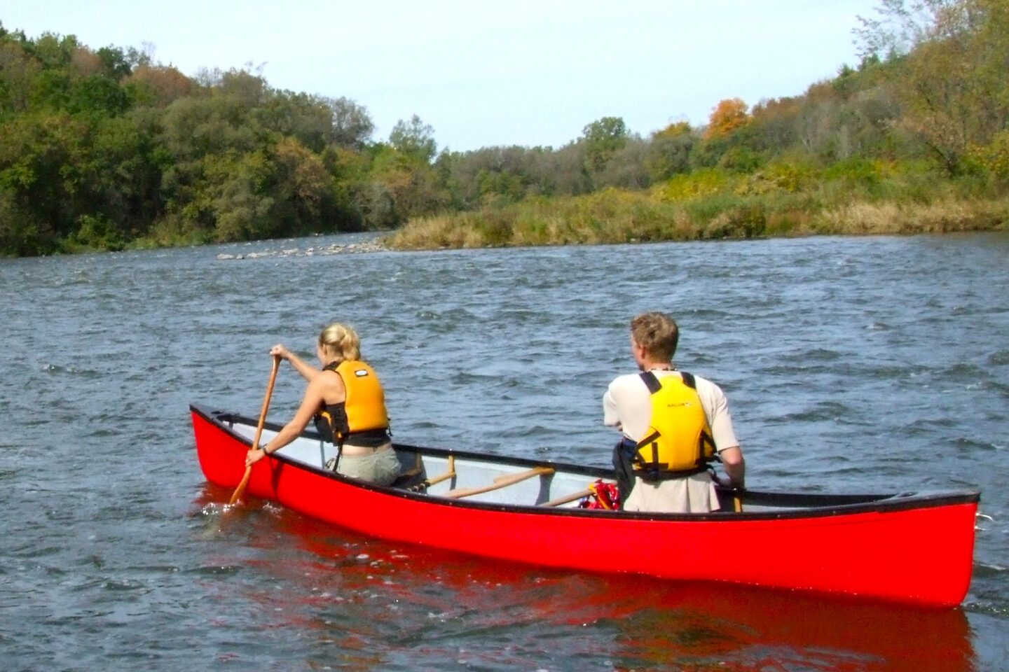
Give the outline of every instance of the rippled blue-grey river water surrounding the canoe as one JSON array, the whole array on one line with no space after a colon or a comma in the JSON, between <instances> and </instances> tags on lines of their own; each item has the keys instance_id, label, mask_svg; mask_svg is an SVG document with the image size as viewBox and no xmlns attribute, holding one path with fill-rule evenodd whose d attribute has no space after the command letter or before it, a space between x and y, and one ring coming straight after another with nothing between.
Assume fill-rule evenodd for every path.
<instances>
[{"instance_id":1,"label":"rippled blue-grey river water surrounding the canoe","mask_svg":"<svg viewBox=\"0 0 1009 672\"><path fill-rule=\"evenodd\" d=\"M4 670L1009 669L1009 235L306 254L349 240L0 261ZM225 512L200 472L188 404L254 416L270 346L332 319L398 440L606 464L650 309L751 488L981 490L964 606L492 562ZM269 418L302 390L284 365Z\"/></svg>"}]
</instances>

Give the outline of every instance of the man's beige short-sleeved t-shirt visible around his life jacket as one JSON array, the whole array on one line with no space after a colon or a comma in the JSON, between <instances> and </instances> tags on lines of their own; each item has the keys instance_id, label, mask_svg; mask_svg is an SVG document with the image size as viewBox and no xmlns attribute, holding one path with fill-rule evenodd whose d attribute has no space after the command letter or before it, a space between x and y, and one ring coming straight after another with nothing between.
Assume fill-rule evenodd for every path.
<instances>
[{"instance_id":1,"label":"man's beige short-sleeved t-shirt visible around his life jacket","mask_svg":"<svg viewBox=\"0 0 1009 672\"><path fill-rule=\"evenodd\" d=\"M678 371L654 371L657 378L679 376ZM738 446L733 429L733 417L724 393L711 381L694 376L697 396L704 408L707 424L711 428L714 448L720 452ZM624 435L640 441L652 420L652 394L639 374L627 374L614 379L602 395L603 422L608 426L620 425ZM630 497L624 502L626 511L655 511L664 513L706 513L718 509L714 484L707 472L693 474L683 479L658 483L635 480Z\"/></svg>"}]
</instances>

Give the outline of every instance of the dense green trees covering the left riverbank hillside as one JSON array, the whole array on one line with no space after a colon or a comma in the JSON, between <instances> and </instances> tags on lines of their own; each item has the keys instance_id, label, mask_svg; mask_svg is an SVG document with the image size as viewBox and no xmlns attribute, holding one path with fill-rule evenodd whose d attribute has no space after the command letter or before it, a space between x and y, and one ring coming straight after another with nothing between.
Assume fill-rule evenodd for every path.
<instances>
[{"instance_id":1,"label":"dense green trees covering the left riverbank hillside","mask_svg":"<svg viewBox=\"0 0 1009 672\"><path fill-rule=\"evenodd\" d=\"M390 229L448 201L430 126L373 130L249 69L0 25L0 255Z\"/></svg>"}]
</instances>

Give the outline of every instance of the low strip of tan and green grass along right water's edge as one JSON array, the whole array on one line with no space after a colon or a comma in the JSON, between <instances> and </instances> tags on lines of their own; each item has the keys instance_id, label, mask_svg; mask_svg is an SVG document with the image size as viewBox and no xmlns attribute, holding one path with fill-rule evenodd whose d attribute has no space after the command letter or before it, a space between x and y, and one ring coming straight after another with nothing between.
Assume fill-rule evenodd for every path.
<instances>
[{"instance_id":1,"label":"low strip of tan and green grass along right water's edge","mask_svg":"<svg viewBox=\"0 0 1009 672\"><path fill-rule=\"evenodd\" d=\"M902 200L814 193L697 197L605 189L412 220L382 244L394 250L593 245L634 242L899 235L1005 230L1009 198L944 194Z\"/></svg>"}]
</instances>

